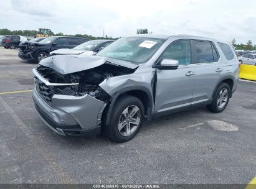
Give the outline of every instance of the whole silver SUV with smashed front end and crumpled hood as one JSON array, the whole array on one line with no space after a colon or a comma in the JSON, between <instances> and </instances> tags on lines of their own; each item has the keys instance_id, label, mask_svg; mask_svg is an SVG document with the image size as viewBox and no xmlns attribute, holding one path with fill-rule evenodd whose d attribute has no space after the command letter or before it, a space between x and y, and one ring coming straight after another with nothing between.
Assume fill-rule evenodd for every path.
<instances>
[{"instance_id":1,"label":"whole silver SUV with smashed front end and crumpled hood","mask_svg":"<svg viewBox=\"0 0 256 189\"><path fill-rule=\"evenodd\" d=\"M237 88L230 44L189 35L125 37L95 56L56 55L33 70L34 104L63 136L103 132L125 142L143 119L207 106L220 113Z\"/></svg>"}]
</instances>

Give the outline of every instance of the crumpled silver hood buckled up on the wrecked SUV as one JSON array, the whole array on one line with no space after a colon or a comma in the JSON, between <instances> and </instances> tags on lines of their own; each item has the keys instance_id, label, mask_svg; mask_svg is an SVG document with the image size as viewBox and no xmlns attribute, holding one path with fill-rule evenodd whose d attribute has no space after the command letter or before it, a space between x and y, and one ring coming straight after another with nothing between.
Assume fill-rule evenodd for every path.
<instances>
[{"instance_id":1,"label":"crumpled silver hood buckled up on the wrecked SUV","mask_svg":"<svg viewBox=\"0 0 256 189\"><path fill-rule=\"evenodd\" d=\"M44 58L40 61L39 65L52 68L52 70L65 75L95 68L103 65L104 63L126 67L133 70L139 67L134 63L123 60L91 55L55 55L53 57Z\"/></svg>"}]
</instances>

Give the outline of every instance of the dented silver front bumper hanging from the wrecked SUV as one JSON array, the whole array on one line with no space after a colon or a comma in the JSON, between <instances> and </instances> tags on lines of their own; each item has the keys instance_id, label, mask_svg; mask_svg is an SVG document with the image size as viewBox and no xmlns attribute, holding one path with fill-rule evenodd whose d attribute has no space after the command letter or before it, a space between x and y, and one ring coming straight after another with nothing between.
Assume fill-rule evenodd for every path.
<instances>
[{"instance_id":1,"label":"dented silver front bumper hanging from the wrecked SUV","mask_svg":"<svg viewBox=\"0 0 256 189\"><path fill-rule=\"evenodd\" d=\"M100 134L102 112L106 104L92 96L55 94L52 106L33 93L37 114L54 132L62 136L95 136Z\"/></svg>"}]
</instances>

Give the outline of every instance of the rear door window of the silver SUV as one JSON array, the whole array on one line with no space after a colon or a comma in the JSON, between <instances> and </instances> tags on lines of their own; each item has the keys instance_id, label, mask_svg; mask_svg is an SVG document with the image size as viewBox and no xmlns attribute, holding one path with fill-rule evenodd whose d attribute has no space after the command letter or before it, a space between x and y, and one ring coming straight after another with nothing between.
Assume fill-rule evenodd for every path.
<instances>
[{"instance_id":1,"label":"rear door window of the silver SUV","mask_svg":"<svg viewBox=\"0 0 256 189\"><path fill-rule=\"evenodd\" d=\"M211 63L214 61L214 51L215 48L212 48L211 42L205 41L195 41L196 48L196 63ZM214 51L212 50L214 49ZM215 51L215 53L217 53Z\"/></svg>"}]
</instances>

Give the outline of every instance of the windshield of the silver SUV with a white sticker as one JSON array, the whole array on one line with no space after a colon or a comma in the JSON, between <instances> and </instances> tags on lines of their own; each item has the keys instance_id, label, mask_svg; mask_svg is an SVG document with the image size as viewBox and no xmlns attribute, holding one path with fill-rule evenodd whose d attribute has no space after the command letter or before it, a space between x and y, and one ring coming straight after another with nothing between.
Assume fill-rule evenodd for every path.
<instances>
[{"instance_id":1,"label":"windshield of the silver SUV with a white sticker","mask_svg":"<svg viewBox=\"0 0 256 189\"><path fill-rule=\"evenodd\" d=\"M164 39L125 37L108 45L97 56L115 58L134 63L145 63L163 44Z\"/></svg>"}]
</instances>

